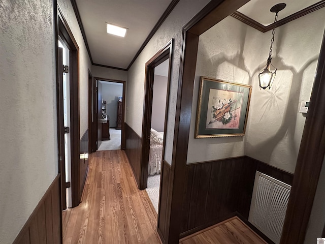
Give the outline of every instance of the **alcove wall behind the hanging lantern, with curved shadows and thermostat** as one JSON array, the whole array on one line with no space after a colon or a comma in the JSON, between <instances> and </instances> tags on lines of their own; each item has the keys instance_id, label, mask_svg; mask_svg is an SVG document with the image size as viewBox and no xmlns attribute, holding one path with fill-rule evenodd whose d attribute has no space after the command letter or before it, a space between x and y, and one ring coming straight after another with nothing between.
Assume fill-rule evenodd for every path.
<instances>
[{"instance_id":1,"label":"alcove wall behind the hanging lantern, with curved shadows and thermostat","mask_svg":"<svg viewBox=\"0 0 325 244\"><path fill-rule=\"evenodd\" d=\"M300 102L310 99L324 27L322 8L277 28L272 63L278 71L273 87L260 91L256 73L253 76L246 155L294 173L305 125ZM268 32L261 40L265 58L270 38ZM262 67L265 61L259 60Z\"/></svg>"}]
</instances>

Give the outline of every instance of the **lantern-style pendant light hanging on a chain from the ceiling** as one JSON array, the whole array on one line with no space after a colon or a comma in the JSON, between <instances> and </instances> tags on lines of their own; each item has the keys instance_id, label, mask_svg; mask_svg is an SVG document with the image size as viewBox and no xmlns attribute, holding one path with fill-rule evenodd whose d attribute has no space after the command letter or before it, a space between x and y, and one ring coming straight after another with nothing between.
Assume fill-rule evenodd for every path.
<instances>
[{"instance_id":1,"label":"lantern-style pendant light hanging on a chain from the ceiling","mask_svg":"<svg viewBox=\"0 0 325 244\"><path fill-rule=\"evenodd\" d=\"M274 5L270 11L272 13L275 13L275 17L274 17L274 28L272 31L272 39L271 39L271 46L270 46L270 52L269 52L269 57L267 59L267 63L266 66L263 67L263 69L261 71L258 72L258 82L259 82L259 89L263 88L266 89L269 87L269 89L271 88L274 78L275 78L275 74L276 74L276 68L271 64L271 60L272 60L272 46L273 46L273 42L274 42L274 34L275 34L275 27L276 27L276 21L278 20L278 13L284 9L286 6L286 4L277 4ZM274 70L271 71L270 67L273 67Z\"/></svg>"}]
</instances>

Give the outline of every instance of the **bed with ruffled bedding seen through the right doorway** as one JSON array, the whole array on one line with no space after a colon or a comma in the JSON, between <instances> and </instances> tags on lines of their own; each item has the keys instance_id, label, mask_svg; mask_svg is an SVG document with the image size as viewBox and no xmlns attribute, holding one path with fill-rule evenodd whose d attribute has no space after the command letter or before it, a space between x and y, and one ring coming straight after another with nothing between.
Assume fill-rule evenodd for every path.
<instances>
[{"instance_id":1,"label":"bed with ruffled bedding seen through the right doorway","mask_svg":"<svg viewBox=\"0 0 325 244\"><path fill-rule=\"evenodd\" d=\"M160 174L163 155L164 132L150 130L148 175Z\"/></svg>"}]
</instances>

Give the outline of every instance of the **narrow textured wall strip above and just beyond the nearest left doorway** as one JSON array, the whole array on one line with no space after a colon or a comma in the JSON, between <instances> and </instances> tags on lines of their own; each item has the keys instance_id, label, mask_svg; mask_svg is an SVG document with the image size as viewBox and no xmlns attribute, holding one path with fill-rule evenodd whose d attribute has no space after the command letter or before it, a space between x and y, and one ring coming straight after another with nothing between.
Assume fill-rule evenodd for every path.
<instances>
[{"instance_id":1,"label":"narrow textured wall strip above and just beyond the nearest left doorway","mask_svg":"<svg viewBox=\"0 0 325 244\"><path fill-rule=\"evenodd\" d=\"M88 69L92 72L92 65L71 1L58 0L57 4L68 22L79 47L79 111L81 138L88 129Z\"/></svg>"}]
</instances>

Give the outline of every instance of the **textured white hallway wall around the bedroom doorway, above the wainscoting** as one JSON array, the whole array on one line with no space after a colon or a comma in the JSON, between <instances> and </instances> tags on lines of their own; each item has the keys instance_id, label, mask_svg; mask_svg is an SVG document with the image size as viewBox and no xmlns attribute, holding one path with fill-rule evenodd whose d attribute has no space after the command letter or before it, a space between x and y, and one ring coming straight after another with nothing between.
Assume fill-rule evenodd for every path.
<instances>
[{"instance_id":1,"label":"textured white hallway wall around the bedroom doorway, above the wainscoting","mask_svg":"<svg viewBox=\"0 0 325 244\"><path fill-rule=\"evenodd\" d=\"M208 0L181 0L127 72L127 100L125 122L138 134L142 133L143 96L146 62L172 38L175 38L170 87L170 102L165 160L171 164L177 101L179 64L181 58L182 27L208 3Z\"/></svg>"}]
</instances>

